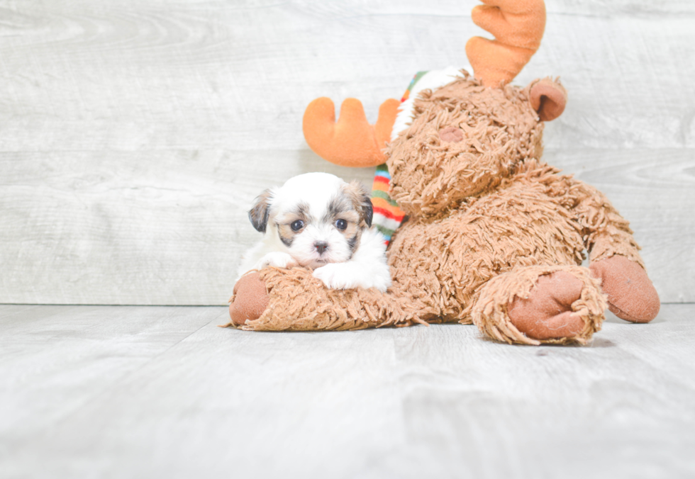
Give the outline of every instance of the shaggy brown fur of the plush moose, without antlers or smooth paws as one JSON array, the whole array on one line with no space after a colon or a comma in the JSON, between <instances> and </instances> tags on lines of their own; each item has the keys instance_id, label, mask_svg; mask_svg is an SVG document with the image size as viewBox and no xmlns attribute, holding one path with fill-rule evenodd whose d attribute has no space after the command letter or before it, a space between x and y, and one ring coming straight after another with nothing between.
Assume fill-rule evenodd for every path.
<instances>
[{"instance_id":1,"label":"shaggy brown fur of the plush moose, without antlers or smooth paws","mask_svg":"<svg viewBox=\"0 0 695 479\"><path fill-rule=\"evenodd\" d=\"M409 215L389 249L393 286L335 291L306 269L267 269L269 306L243 329L457 321L503 342L586 344L601 327L606 295L579 265L585 251L594 262L621 255L643 273L628 222L595 188L542 162L543 123L529 88L486 88L465 74L423 92L415 106L412 125L386 150L392 194ZM567 314L584 325L569 337L533 339L509 307L539 292L552 303L538 279L557 271L565 276L556 279L581 284ZM640 281L653 289L645 274Z\"/></svg>"}]
</instances>

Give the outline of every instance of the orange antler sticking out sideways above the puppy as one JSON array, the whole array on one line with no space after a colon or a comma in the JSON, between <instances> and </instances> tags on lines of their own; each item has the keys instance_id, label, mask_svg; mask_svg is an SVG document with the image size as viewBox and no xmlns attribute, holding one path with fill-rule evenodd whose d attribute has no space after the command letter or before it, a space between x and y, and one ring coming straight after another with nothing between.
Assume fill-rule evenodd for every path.
<instances>
[{"instance_id":1,"label":"orange antler sticking out sideways above the puppy","mask_svg":"<svg viewBox=\"0 0 695 479\"><path fill-rule=\"evenodd\" d=\"M391 140L391 129L400 106L389 99L379 107L379 118L369 125L360 100L347 98L335 123L335 106L325 96L309 103L304 112L304 138L318 156L341 167L374 167L386 161L382 148Z\"/></svg>"}]
</instances>

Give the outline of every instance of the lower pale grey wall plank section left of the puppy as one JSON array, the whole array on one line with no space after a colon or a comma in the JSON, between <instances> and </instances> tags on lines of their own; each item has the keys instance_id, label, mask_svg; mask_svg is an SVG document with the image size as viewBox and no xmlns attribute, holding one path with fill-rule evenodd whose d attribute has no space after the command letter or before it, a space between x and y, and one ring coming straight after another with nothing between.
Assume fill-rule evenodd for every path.
<instances>
[{"instance_id":1,"label":"lower pale grey wall plank section left of the puppy","mask_svg":"<svg viewBox=\"0 0 695 479\"><path fill-rule=\"evenodd\" d=\"M296 163L373 179L306 153L0 153L0 300L224 304L261 237L246 212L262 190L299 174Z\"/></svg>"}]
</instances>

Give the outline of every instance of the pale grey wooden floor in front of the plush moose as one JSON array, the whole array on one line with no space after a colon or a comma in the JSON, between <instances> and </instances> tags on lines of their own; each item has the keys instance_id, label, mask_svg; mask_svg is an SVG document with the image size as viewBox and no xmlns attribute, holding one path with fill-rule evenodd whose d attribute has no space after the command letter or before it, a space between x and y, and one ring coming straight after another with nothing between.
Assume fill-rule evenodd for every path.
<instances>
[{"instance_id":1,"label":"pale grey wooden floor in front of the plush moose","mask_svg":"<svg viewBox=\"0 0 695 479\"><path fill-rule=\"evenodd\" d=\"M692 478L695 305L586 347L0 305L1 478Z\"/></svg>"}]
</instances>

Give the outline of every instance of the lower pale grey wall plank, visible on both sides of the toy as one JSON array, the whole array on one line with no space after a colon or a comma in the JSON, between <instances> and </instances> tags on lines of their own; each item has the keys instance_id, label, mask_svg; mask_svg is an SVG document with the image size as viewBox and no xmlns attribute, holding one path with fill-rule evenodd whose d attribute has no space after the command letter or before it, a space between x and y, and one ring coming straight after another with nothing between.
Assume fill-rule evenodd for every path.
<instances>
[{"instance_id":1,"label":"lower pale grey wall plank, visible on both sides of the toy","mask_svg":"<svg viewBox=\"0 0 695 479\"><path fill-rule=\"evenodd\" d=\"M0 258L14 272L0 276L2 299L225 303L240 254L259 237L246 217L251 199L291 176L283 162L263 178L234 171L251 156L111 152L94 165L84 152L0 154L11 172L0 188L7 225ZM346 170L306 156L316 169ZM663 301L695 300L691 150L548 150L545 157L600 188L630 220Z\"/></svg>"}]
</instances>

